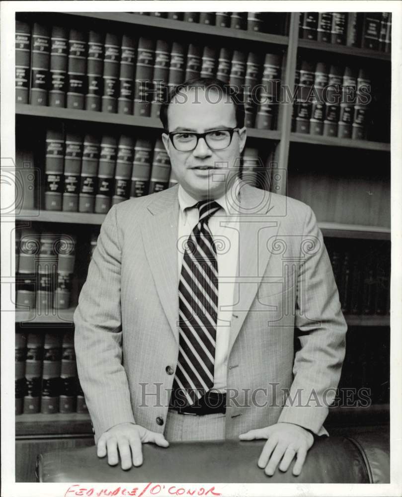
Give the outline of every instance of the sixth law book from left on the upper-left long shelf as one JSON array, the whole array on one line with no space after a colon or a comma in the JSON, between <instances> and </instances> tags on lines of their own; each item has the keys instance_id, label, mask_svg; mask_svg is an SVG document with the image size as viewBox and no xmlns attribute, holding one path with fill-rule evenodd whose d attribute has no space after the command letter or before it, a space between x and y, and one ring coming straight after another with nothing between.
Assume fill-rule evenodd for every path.
<instances>
[{"instance_id":1,"label":"sixth law book from left on the upper-left long shelf","mask_svg":"<svg viewBox=\"0 0 402 497\"><path fill-rule=\"evenodd\" d=\"M121 42L117 34L106 33L103 56L102 112L112 114L117 112L117 97L119 96L120 46Z\"/></svg>"}]
</instances>

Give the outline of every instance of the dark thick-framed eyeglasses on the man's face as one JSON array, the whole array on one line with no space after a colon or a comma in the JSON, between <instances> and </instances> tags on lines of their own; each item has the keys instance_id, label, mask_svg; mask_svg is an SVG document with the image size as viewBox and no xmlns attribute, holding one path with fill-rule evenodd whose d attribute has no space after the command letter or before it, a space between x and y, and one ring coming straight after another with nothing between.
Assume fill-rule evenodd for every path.
<instances>
[{"instance_id":1,"label":"dark thick-framed eyeglasses on the man's face","mask_svg":"<svg viewBox=\"0 0 402 497\"><path fill-rule=\"evenodd\" d=\"M189 131L175 131L169 134L173 147L179 152L191 152L198 145L198 140L204 138L211 150L224 150L232 143L233 133L240 128L222 128L207 131L206 133L193 133Z\"/></svg>"}]
</instances>

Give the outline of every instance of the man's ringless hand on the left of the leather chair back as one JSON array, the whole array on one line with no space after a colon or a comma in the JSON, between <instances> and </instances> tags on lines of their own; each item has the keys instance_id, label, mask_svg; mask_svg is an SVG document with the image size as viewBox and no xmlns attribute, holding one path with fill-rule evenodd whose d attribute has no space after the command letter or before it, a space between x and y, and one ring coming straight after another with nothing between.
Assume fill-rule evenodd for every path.
<instances>
[{"instance_id":1,"label":"man's ringless hand on the left of the leather chair back","mask_svg":"<svg viewBox=\"0 0 402 497\"><path fill-rule=\"evenodd\" d=\"M130 469L131 464L141 466L143 463L143 443L156 443L160 447L168 447L169 442L161 433L155 433L133 423L120 423L101 434L97 443L98 457L105 457L111 466L115 466L121 458L121 469ZM117 452L118 450L118 452Z\"/></svg>"}]
</instances>

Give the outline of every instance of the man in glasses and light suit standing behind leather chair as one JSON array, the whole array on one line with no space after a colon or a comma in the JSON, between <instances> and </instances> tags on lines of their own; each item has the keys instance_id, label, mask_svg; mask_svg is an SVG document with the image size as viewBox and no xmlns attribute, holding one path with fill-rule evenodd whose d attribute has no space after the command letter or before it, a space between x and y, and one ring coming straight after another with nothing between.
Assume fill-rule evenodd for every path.
<instances>
[{"instance_id":1,"label":"man in glasses and light suit standing behind leather chair","mask_svg":"<svg viewBox=\"0 0 402 497\"><path fill-rule=\"evenodd\" d=\"M184 83L161 120L179 185L110 209L75 313L97 454L128 469L146 442L265 438L258 466L296 457L298 475L345 352L314 213L239 180L244 110L222 82Z\"/></svg>"}]
</instances>

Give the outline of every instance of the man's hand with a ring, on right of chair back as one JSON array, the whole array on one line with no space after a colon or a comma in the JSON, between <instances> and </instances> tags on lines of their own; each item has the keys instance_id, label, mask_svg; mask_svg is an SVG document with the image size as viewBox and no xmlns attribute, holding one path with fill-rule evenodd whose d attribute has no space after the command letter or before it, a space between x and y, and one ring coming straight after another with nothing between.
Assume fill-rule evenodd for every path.
<instances>
[{"instance_id":1,"label":"man's hand with a ring, on right of chair back","mask_svg":"<svg viewBox=\"0 0 402 497\"><path fill-rule=\"evenodd\" d=\"M307 451L313 445L314 436L302 426L292 423L277 423L266 428L250 430L239 435L241 440L255 440L256 438L267 438L258 459L258 466L265 468L265 474L272 476L279 464L281 471L287 471L290 463L296 455L293 474L299 476Z\"/></svg>"}]
</instances>

